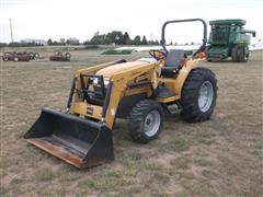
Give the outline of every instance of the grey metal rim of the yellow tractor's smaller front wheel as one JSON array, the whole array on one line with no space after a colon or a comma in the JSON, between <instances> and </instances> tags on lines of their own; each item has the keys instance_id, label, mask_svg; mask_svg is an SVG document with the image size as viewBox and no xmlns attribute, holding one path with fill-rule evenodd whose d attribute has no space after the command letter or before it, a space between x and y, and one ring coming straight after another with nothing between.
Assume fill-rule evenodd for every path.
<instances>
[{"instance_id":1,"label":"grey metal rim of the yellow tractor's smaller front wheel","mask_svg":"<svg viewBox=\"0 0 263 197\"><path fill-rule=\"evenodd\" d=\"M160 127L161 124L161 115L158 111L151 111L145 119L145 134L148 137L155 136Z\"/></svg>"}]
</instances>

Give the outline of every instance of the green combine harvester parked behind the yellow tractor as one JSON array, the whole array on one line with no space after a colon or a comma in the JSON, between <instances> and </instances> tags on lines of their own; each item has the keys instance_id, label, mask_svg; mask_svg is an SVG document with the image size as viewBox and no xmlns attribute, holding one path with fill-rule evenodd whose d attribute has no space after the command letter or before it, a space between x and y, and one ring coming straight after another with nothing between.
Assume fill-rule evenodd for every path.
<instances>
[{"instance_id":1,"label":"green combine harvester parked behind the yellow tractor","mask_svg":"<svg viewBox=\"0 0 263 197\"><path fill-rule=\"evenodd\" d=\"M244 30L244 20L215 20L209 22L211 30L206 49L208 61L222 60L231 57L235 62L245 62L249 59L249 44L255 31Z\"/></svg>"}]
</instances>

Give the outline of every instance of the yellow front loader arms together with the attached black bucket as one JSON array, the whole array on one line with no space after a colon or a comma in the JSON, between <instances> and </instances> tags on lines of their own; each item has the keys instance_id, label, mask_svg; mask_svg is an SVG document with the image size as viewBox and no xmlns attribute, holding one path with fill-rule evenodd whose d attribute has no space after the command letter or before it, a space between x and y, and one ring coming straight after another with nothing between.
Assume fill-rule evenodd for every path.
<instances>
[{"instance_id":1,"label":"yellow front loader arms together with the attached black bucket","mask_svg":"<svg viewBox=\"0 0 263 197\"><path fill-rule=\"evenodd\" d=\"M38 119L24 135L27 142L77 167L95 166L112 161L114 159L112 128L118 103L127 92L136 93L130 90L132 86L127 83L146 72L148 74L145 74L145 77L148 76L150 79L153 69L158 66L139 61L137 62L138 67L130 67L127 72L113 74L102 106L81 100L76 89L81 88L80 83L83 74L85 77L94 76L98 70L107 66L125 66L122 62L124 61L113 61L77 71L72 83L73 91L70 91L73 93L70 113L44 107ZM103 79L102 76L99 76L99 78ZM89 82L89 78L82 82ZM139 90L141 92L150 91L150 83L148 83L147 89ZM89 112L92 112L92 114L88 114Z\"/></svg>"}]
</instances>

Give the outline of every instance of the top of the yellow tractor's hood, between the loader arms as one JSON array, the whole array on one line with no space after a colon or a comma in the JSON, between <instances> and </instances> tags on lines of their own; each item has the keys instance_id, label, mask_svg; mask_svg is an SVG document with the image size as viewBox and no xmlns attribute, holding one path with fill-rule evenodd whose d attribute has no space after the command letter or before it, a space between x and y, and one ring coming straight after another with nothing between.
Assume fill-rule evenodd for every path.
<instances>
[{"instance_id":1,"label":"top of the yellow tractor's hood, between the loader arms","mask_svg":"<svg viewBox=\"0 0 263 197\"><path fill-rule=\"evenodd\" d=\"M113 65L110 67L105 67L96 72L98 76L103 76L106 78L111 78L113 74L119 73L119 72L127 72L132 71L133 69L138 69L139 67L144 68L146 66L156 63L157 60L153 58L141 58L136 61L129 61L129 62L123 62Z\"/></svg>"}]
</instances>

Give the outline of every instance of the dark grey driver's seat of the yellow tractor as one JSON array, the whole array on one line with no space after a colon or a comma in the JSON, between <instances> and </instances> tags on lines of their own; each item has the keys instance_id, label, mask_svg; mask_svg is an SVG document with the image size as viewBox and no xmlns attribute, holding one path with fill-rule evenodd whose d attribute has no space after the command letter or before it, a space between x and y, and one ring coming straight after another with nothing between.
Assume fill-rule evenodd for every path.
<instances>
[{"instance_id":1,"label":"dark grey driver's seat of the yellow tractor","mask_svg":"<svg viewBox=\"0 0 263 197\"><path fill-rule=\"evenodd\" d=\"M170 50L165 59L165 65L161 68L161 76L165 78L172 78L179 71L180 66L182 65L184 59L184 50Z\"/></svg>"}]
</instances>

